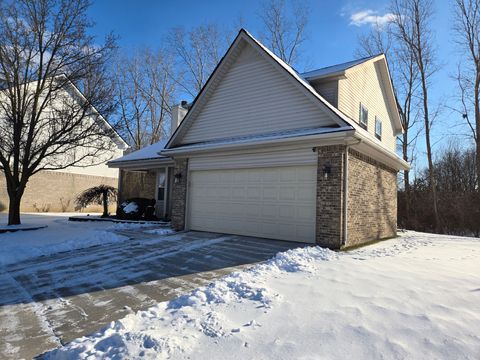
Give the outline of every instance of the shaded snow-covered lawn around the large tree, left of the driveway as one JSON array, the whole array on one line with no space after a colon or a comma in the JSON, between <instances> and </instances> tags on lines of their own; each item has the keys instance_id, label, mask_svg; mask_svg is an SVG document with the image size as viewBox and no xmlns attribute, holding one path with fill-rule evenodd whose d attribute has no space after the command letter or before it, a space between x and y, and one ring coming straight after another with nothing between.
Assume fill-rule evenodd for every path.
<instances>
[{"instance_id":1,"label":"shaded snow-covered lawn around the large tree, left of the driveway","mask_svg":"<svg viewBox=\"0 0 480 360\"><path fill-rule=\"evenodd\" d=\"M22 223L47 227L32 231L0 233L0 266L35 256L125 241L128 237L113 231L148 226L148 224L68 221L68 217L72 215L78 213L22 214ZM0 224L6 223L7 214L0 214Z\"/></svg>"}]
</instances>

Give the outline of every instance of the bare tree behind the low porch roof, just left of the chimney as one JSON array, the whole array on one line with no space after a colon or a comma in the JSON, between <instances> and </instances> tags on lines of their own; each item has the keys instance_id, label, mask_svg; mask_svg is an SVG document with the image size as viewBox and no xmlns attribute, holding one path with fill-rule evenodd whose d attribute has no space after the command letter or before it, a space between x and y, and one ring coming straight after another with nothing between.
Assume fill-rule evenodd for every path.
<instances>
[{"instance_id":1,"label":"bare tree behind the low porch roof, just left of the chimney","mask_svg":"<svg viewBox=\"0 0 480 360\"><path fill-rule=\"evenodd\" d=\"M119 126L134 149L166 136L176 82L165 50L143 49L117 59L115 71Z\"/></svg>"}]
</instances>

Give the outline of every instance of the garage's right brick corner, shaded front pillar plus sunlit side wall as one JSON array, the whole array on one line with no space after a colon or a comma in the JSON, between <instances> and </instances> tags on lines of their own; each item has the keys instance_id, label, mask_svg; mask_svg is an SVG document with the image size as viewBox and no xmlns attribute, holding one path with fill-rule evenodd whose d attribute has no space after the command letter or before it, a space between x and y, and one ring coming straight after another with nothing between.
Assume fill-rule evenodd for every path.
<instances>
[{"instance_id":1,"label":"garage's right brick corner, shaded front pillar plus sunlit side wall","mask_svg":"<svg viewBox=\"0 0 480 360\"><path fill-rule=\"evenodd\" d=\"M396 236L397 171L352 149L344 234L345 151L343 145L317 148L317 244L338 249Z\"/></svg>"}]
</instances>

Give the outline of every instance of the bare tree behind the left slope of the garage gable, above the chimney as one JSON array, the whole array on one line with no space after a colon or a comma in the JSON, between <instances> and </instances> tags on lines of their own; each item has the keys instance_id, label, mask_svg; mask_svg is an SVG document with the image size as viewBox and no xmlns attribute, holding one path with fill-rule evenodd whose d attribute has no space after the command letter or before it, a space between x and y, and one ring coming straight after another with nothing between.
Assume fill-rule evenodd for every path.
<instances>
[{"instance_id":1,"label":"bare tree behind the left slope of the garage gable, above the chimney","mask_svg":"<svg viewBox=\"0 0 480 360\"><path fill-rule=\"evenodd\" d=\"M171 30L167 41L177 66L170 78L184 93L193 98L200 92L228 48L230 35L214 23L189 31L180 27Z\"/></svg>"}]
</instances>

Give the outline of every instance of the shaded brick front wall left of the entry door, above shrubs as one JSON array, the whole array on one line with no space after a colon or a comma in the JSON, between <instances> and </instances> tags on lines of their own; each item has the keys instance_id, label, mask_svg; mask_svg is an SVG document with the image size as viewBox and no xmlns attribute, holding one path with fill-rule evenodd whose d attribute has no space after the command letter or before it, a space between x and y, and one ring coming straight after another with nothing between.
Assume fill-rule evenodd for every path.
<instances>
[{"instance_id":1,"label":"shaded brick front wall left of the entry door, above shrubs","mask_svg":"<svg viewBox=\"0 0 480 360\"><path fill-rule=\"evenodd\" d=\"M135 197L155 199L156 171L120 171L119 202Z\"/></svg>"}]
</instances>

